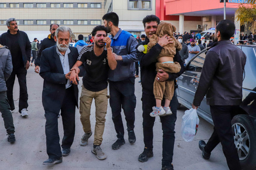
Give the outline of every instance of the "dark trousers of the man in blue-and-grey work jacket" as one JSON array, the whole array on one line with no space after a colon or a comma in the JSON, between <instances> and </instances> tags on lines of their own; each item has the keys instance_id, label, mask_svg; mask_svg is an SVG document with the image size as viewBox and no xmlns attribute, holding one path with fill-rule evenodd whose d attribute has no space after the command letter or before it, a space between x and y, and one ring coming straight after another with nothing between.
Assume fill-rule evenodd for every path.
<instances>
[{"instance_id":1,"label":"dark trousers of the man in blue-and-grey work jacket","mask_svg":"<svg viewBox=\"0 0 256 170\"><path fill-rule=\"evenodd\" d=\"M112 120L115 125L115 131L117 132L117 138L123 139L125 134L123 121L121 116L121 108L125 114L125 120L127 130L134 129L135 121L135 107L136 97L134 94L135 78L130 77L123 81L110 81L109 92L110 92L110 107L112 110Z\"/></svg>"}]
</instances>

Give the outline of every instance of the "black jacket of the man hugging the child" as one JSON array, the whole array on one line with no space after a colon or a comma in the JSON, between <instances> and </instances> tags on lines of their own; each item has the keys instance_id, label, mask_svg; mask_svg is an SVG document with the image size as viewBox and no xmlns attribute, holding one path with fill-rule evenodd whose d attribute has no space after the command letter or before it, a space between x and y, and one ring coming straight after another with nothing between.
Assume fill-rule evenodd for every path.
<instances>
[{"instance_id":1,"label":"black jacket of the man hugging the child","mask_svg":"<svg viewBox=\"0 0 256 170\"><path fill-rule=\"evenodd\" d=\"M140 42L137 47L137 56L139 58L139 65L141 68L141 85L142 85L142 92L147 95L153 95L153 84L156 77L156 57L160 54L162 47L157 43L152 49L144 54L143 52L138 51L139 45L147 45L149 43L149 39L146 37L144 42ZM147 49L147 47L145 47ZM180 72L179 73L169 73L169 81L174 81L178 76L180 76L184 71L184 62L181 60L179 52L176 50L176 54L173 58L174 62L180 63ZM176 83L176 81L175 81Z\"/></svg>"}]
</instances>

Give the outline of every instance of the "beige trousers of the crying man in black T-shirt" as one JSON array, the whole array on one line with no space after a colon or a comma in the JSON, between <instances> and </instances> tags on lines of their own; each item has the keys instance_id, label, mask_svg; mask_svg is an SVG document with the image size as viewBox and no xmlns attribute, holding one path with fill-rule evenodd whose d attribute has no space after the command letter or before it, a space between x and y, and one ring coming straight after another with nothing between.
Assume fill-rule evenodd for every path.
<instances>
[{"instance_id":1,"label":"beige trousers of the crying man in black T-shirt","mask_svg":"<svg viewBox=\"0 0 256 170\"><path fill-rule=\"evenodd\" d=\"M99 92L92 92L84 88L82 86L81 97L80 97L80 106L79 106L79 113L81 114L80 120L83 125L84 133L91 132L91 105L92 99L95 100L95 117L96 117L96 124L94 130L94 145L100 145L102 143L102 135L105 128L105 116L107 113L107 88L99 91Z\"/></svg>"}]
</instances>

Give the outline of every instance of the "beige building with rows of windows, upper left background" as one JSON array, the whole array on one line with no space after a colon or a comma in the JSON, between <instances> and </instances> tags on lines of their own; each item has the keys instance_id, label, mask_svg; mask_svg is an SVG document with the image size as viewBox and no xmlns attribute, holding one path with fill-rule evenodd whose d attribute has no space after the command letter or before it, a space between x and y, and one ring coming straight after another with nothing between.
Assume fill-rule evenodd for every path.
<instances>
[{"instance_id":1,"label":"beige building with rows of windows, upper left background","mask_svg":"<svg viewBox=\"0 0 256 170\"><path fill-rule=\"evenodd\" d=\"M71 28L77 39L85 39L96 25L102 25L104 0L0 0L0 31L6 31L6 19L14 17L19 30L48 31L57 23ZM32 40L31 40L32 41Z\"/></svg>"}]
</instances>

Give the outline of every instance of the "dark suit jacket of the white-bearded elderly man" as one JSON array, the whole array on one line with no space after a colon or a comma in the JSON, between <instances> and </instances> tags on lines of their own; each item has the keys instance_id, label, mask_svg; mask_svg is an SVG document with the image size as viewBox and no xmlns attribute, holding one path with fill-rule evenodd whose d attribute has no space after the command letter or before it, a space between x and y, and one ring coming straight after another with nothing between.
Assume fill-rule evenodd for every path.
<instances>
[{"instance_id":1,"label":"dark suit jacket of the white-bearded elderly man","mask_svg":"<svg viewBox=\"0 0 256 170\"><path fill-rule=\"evenodd\" d=\"M67 79L63 72L60 57L56 51L57 46L52 46L42 52L41 69L39 75L44 79L42 103L44 110L59 113L65 96ZM69 47L68 61L70 69L75 64L79 54L77 48ZM78 87L72 84L76 106L78 107Z\"/></svg>"}]
</instances>

